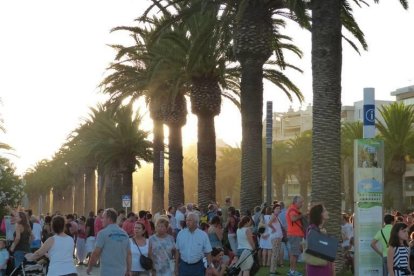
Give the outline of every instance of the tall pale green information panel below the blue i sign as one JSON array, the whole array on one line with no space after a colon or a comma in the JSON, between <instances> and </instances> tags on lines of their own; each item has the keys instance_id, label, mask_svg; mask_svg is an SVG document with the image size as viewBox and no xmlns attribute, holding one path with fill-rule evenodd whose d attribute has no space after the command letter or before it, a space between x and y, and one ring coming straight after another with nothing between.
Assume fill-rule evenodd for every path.
<instances>
[{"instance_id":1,"label":"tall pale green information panel below the blue i sign","mask_svg":"<svg viewBox=\"0 0 414 276\"><path fill-rule=\"evenodd\" d=\"M371 241L382 228L384 143L378 139L354 142L355 275L382 275L382 259Z\"/></svg>"}]
</instances>

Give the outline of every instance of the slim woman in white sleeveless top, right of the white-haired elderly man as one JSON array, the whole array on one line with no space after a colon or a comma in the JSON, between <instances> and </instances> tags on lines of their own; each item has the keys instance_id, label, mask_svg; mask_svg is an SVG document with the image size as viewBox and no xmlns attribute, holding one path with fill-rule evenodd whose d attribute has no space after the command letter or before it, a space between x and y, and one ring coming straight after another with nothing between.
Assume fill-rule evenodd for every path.
<instances>
[{"instance_id":1,"label":"slim woman in white sleeveless top, right of the white-haired elderly man","mask_svg":"<svg viewBox=\"0 0 414 276\"><path fill-rule=\"evenodd\" d=\"M239 222L237 229L237 256L239 257L236 265L241 269L239 276L249 276L254 259L252 251L255 248L252 232L253 220L249 216L244 216Z\"/></svg>"}]
</instances>

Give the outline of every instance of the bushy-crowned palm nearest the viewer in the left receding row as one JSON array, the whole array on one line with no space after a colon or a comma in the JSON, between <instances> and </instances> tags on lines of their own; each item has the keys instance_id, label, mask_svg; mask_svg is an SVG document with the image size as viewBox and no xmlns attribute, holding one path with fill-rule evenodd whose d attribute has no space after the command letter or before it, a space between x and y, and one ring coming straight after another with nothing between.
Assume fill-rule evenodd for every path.
<instances>
[{"instance_id":1,"label":"bushy-crowned palm nearest the viewer in the left receding row","mask_svg":"<svg viewBox=\"0 0 414 276\"><path fill-rule=\"evenodd\" d=\"M121 196L132 195L136 166L141 166L140 160L151 160L152 144L146 140L148 133L139 129L142 117L131 106L117 110L100 106L92 114L79 147L95 156L98 172L104 175L105 205L119 208Z\"/></svg>"}]
</instances>

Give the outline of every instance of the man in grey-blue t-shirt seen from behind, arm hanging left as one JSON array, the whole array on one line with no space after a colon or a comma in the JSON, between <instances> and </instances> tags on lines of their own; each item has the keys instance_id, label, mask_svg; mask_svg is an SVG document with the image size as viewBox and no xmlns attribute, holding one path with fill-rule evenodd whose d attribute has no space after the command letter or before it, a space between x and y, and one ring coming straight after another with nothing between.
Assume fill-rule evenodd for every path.
<instances>
[{"instance_id":1,"label":"man in grey-blue t-shirt seen from behind, arm hanging left","mask_svg":"<svg viewBox=\"0 0 414 276\"><path fill-rule=\"evenodd\" d=\"M110 208L103 212L103 229L96 238L96 247L86 272L101 258L101 276L132 275L131 248L128 234L116 224L117 212Z\"/></svg>"}]
</instances>

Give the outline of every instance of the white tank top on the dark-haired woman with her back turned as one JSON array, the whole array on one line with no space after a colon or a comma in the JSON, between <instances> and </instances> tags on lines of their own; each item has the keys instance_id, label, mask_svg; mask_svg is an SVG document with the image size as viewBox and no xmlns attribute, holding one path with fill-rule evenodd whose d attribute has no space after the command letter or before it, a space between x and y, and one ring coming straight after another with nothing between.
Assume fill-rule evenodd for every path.
<instances>
[{"instance_id":1,"label":"white tank top on the dark-haired woman with her back turned","mask_svg":"<svg viewBox=\"0 0 414 276\"><path fill-rule=\"evenodd\" d=\"M70 236L53 236L53 246L49 250L49 271L47 276L77 273L73 263L74 242Z\"/></svg>"}]
</instances>

